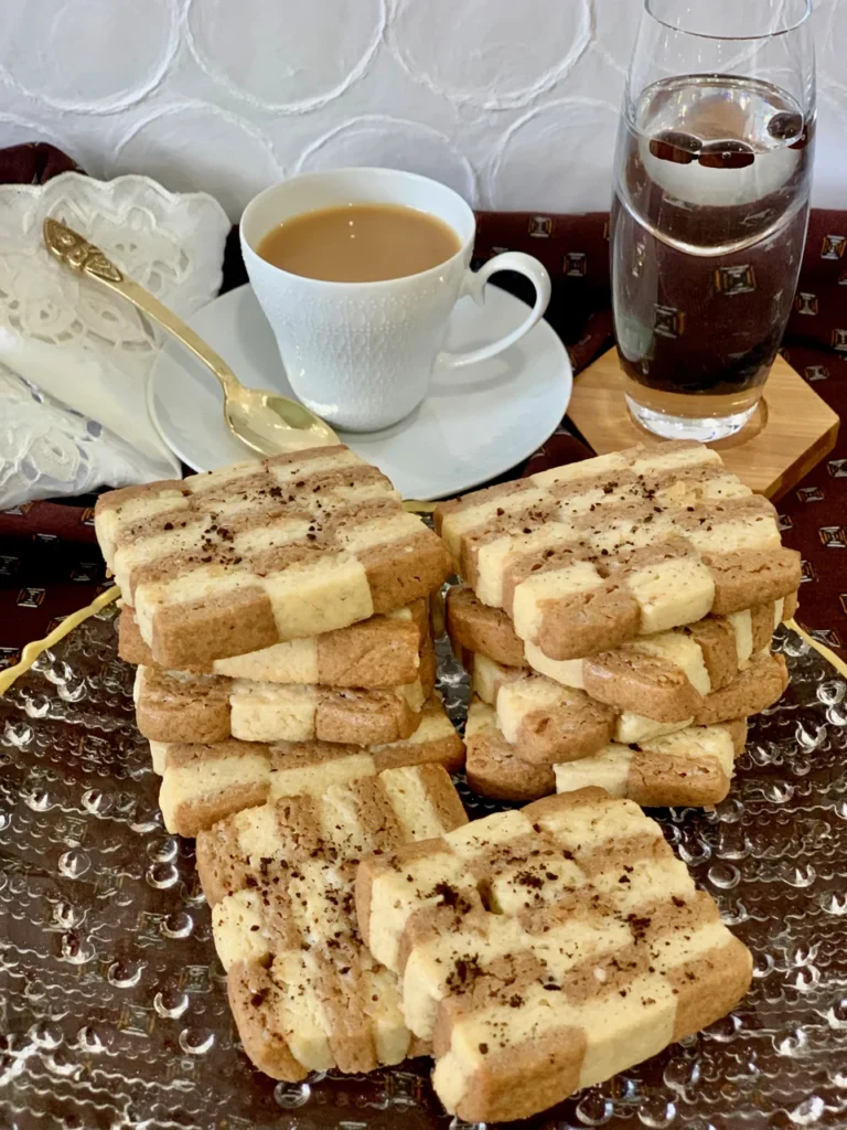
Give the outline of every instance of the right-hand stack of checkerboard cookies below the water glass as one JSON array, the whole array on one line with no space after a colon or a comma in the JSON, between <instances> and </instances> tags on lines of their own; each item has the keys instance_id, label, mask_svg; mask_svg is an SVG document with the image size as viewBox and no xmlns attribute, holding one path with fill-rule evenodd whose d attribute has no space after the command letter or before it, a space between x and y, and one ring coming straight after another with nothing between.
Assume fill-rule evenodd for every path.
<instances>
[{"instance_id":1,"label":"right-hand stack of checkerboard cookies below the water glass","mask_svg":"<svg viewBox=\"0 0 847 1130\"><path fill-rule=\"evenodd\" d=\"M466 582L447 623L473 672L474 790L724 799L748 716L787 685L771 636L800 559L770 503L673 443L444 503L436 528Z\"/></svg>"}]
</instances>

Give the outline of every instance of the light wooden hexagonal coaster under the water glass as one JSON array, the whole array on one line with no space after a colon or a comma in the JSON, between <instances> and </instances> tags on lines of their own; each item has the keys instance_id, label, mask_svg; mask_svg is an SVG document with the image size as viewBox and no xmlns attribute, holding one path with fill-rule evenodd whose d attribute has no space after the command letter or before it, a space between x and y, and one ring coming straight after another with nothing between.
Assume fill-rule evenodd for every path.
<instances>
[{"instance_id":1,"label":"light wooden hexagonal coaster under the water glass","mask_svg":"<svg viewBox=\"0 0 847 1130\"><path fill-rule=\"evenodd\" d=\"M623 373L614 349L599 357L574 382L568 417L594 451L662 443L632 419L623 399ZM728 440L709 446L735 475L768 498L780 498L828 455L840 420L783 358L770 371L752 419Z\"/></svg>"}]
</instances>

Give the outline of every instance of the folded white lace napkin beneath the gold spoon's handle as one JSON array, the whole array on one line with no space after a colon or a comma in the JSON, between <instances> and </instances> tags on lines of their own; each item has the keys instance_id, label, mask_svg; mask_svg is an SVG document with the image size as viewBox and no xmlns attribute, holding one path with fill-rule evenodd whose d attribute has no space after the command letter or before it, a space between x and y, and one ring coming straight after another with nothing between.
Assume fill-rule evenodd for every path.
<instances>
[{"instance_id":1,"label":"folded white lace napkin beneath the gold spoon's handle","mask_svg":"<svg viewBox=\"0 0 847 1130\"><path fill-rule=\"evenodd\" d=\"M178 475L147 382L159 340L133 306L55 262L46 216L185 318L218 293L229 220L147 176L0 185L0 510Z\"/></svg>"}]
</instances>

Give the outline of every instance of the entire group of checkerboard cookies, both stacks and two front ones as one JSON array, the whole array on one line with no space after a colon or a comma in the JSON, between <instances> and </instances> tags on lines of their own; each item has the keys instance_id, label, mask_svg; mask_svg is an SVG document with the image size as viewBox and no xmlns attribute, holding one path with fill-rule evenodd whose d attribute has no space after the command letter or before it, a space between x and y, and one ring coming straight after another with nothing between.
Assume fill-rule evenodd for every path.
<instances>
[{"instance_id":1,"label":"entire group of checkerboard cookies, both stacks and two front ones","mask_svg":"<svg viewBox=\"0 0 847 1130\"><path fill-rule=\"evenodd\" d=\"M510 1120L744 994L750 954L635 803L718 799L741 720L784 686L769 642L797 563L716 457L481 492L439 507L444 542L344 447L113 492L96 522L163 814L197 836L257 1068L430 1054L451 1113ZM445 542L469 781L559 789L470 823L433 690Z\"/></svg>"}]
</instances>

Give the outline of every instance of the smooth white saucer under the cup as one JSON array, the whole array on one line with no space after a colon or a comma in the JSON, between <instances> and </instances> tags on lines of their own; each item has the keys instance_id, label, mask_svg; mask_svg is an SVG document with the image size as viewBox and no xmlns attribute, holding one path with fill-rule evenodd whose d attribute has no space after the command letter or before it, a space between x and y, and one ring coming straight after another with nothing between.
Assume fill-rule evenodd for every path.
<instances>
[{"instance_id":1,"label":"smooth white saucer under the cup","mask_svg":"<svg viewBox=\"0 0 847 1130\"><path fill-rule=\"evenodd\" d=\"M524 303L489 286L483 307L460 299L446 348L484 345L525 315ZM216 298L189 324L245 384L292 395L250 286ZM567 351L541 321L491 360L464 370L437 368L427 399L400 424L383 432L340 435L384 471L404 498L443 498L527 459L561 420L571 386ZM148 402L165 443L194 470L210 471L250 457L224 424L218 382L176 342L165 346L154 366Z\"/></svg>"}]
</instances>

